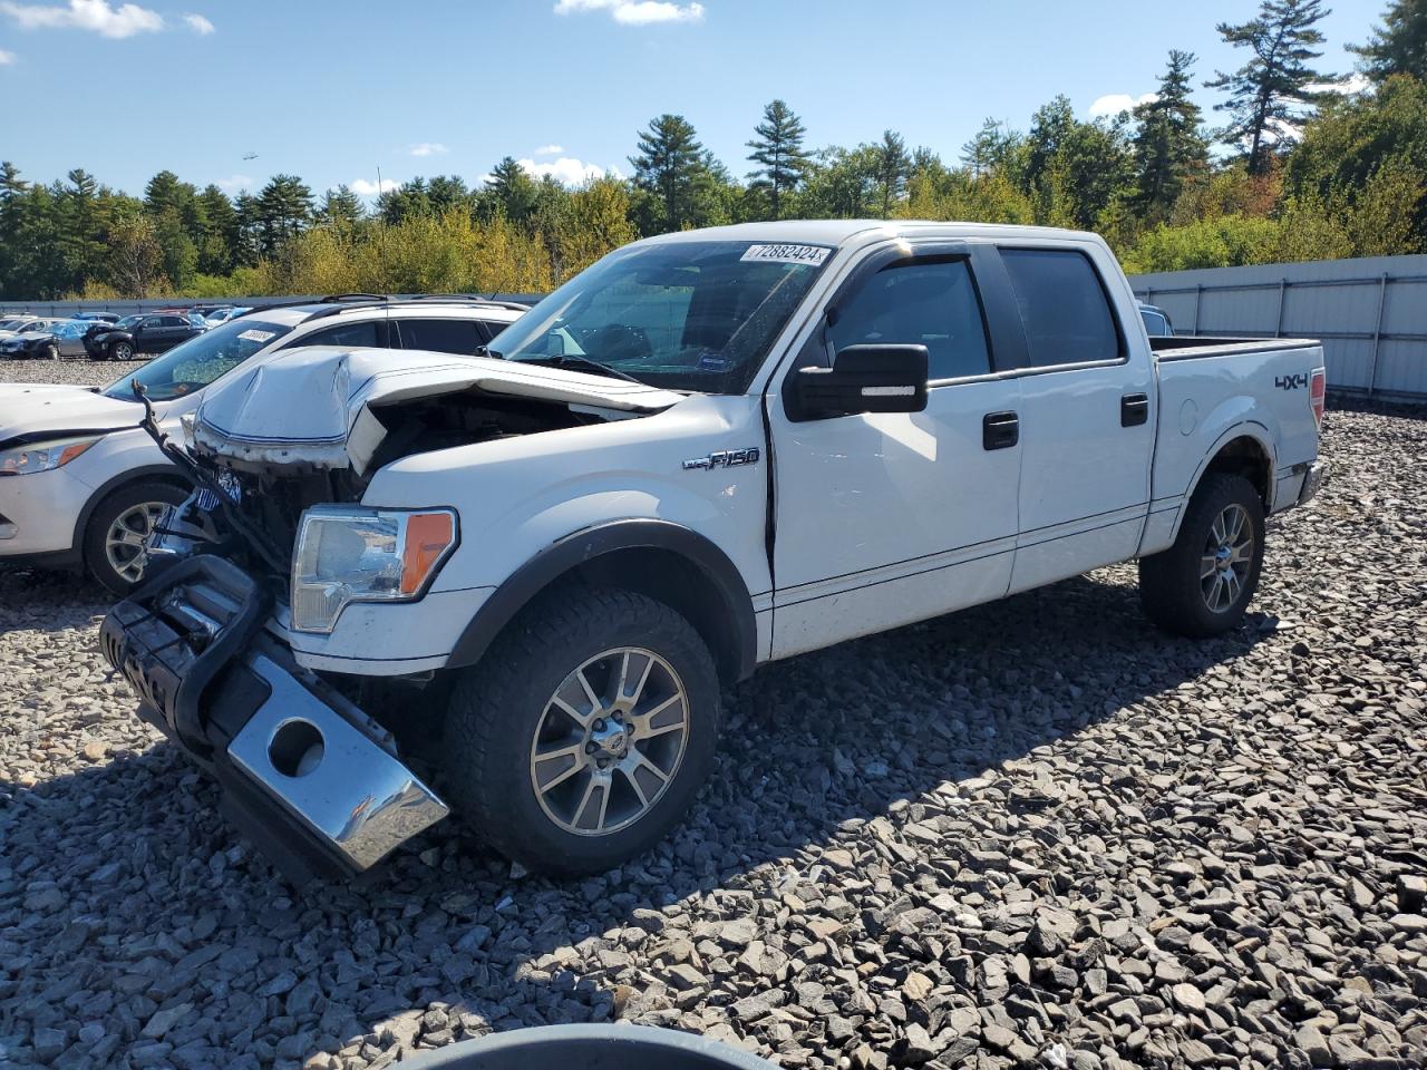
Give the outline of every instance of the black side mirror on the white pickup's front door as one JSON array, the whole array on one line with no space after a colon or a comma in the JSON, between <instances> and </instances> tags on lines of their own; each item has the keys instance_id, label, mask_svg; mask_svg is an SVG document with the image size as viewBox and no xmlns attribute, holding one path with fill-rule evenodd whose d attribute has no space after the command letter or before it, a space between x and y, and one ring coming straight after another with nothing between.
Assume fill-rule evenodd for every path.
<instances>
[{"instance_id":1,"label":"black side mirror on the white pickup's front door","mask_svg":"<svg viewBox=\"0 0 1427 1070\"><path fill-rule=\"evenodd\" d=\"M798 368L788 392L795 422L856 412L920 412L926 408L925 345L849 345L831 368Z\"/></svg>"}]
</instances>

